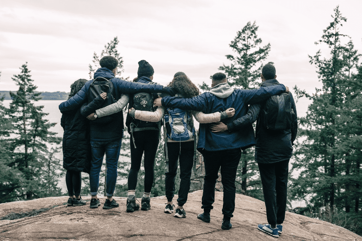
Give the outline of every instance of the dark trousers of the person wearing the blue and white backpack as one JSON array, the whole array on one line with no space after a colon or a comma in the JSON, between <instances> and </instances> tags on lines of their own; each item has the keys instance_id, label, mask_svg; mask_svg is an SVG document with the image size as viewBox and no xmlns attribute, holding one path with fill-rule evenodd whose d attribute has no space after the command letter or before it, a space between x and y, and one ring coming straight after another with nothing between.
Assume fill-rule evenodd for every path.
<instances>
[{"instance_id":1,"label":"dark trousers of the person wearing the blue and white backpack","mask_svg":"<svg viewBox=\"0 0 362 241\"><path fill-rule=\"evenodd\" d=\"M165 189L168 202L172 201L175 191L175 177L177 174L177 160L180 159L180 189L178 190L177 204L184 206L190 190L190 177L194 164L194 142L167 142L168 169L165 173ZM180 151L181 146L181 151Z\"/></svg>"}]
</instances>

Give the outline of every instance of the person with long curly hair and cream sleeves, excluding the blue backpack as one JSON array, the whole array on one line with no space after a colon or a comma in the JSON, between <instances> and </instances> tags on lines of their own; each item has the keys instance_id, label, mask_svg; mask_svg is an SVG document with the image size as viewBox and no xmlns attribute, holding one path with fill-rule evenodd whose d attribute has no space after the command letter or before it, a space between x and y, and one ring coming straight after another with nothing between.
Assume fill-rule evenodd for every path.
<instances>
[{"instance_id":1,"label":"person with long curly hair and cream sleeves, excluding the blue backpack","mask_svg":"<svg viewBox=\"0 0 362 241\"><path fill-rule=\"evenodd\" d=\"M199 89L190 81L190 79L183 72L177 72L174 75L174 78L169 83L168 87L171 87L176 96L182 96L184 98L192 98L197 96L200 93ZM129 109L130 116L135 119L143 121L158 122L164 117L164 113L167 112L165 107L158 107L155 112L150 111L139 111L133 108ZM194 123L192 116L200 123L211 123L217 122L221 119L231 117L234 115L234 109L229 108L224 112L215 112L211 114L204 114L200 111L189 111L186 110L190 120L187 123L187 127L190 133L193 133ZM165 125L166 126L166 125ZM175 210L174 216L176 218L185 218L186 212L183 208L185 205L188 193L190 190L190 177L191 170L194 163L194 148L195 148L195 136L194 134L187 141L177 141L167 136L167 129L164 128L164 138L165 138L165 154L168 157L168 172L165 173L165 189L167 204L164 212L171 214L173 212L173 203L172 199L174 197L175 191L175 177L177 174L177 162L180 160L180 189L178 190L177 198L177 208Z\"/></svg>"}]
</instances>

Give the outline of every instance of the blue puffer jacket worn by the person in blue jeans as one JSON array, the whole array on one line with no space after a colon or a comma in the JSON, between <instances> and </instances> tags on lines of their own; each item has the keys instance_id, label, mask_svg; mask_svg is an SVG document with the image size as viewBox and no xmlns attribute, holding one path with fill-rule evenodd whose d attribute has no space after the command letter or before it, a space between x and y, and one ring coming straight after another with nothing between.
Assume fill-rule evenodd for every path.
<instances>
[{"instance_id":1,"label":"blue puffer jacket worn by the person in blue jeans","mask_svg":"<svg viewBox=\"0 0 362 241\"><path fill-rule=\"evenodd\" d=\"M137 92L163 92L162 85L144 85L135 82L124 81L123 79L115 78L111 70L107 68L97 69L94 73L94 78L104 77L110 79L114 86L113 97L118 100L122 94L134 94ZM87 103L87 93L92 81L88 81L82 87L82 89L72 98L61 103L59 110L71 111L74 109L80 109L83 103ZM93 141L113 141L120 139L123 136L123 114L119 114L119 118L114 119L106 125L95 124L90 121L90 139Z\"/></svg>"}]
</instances>

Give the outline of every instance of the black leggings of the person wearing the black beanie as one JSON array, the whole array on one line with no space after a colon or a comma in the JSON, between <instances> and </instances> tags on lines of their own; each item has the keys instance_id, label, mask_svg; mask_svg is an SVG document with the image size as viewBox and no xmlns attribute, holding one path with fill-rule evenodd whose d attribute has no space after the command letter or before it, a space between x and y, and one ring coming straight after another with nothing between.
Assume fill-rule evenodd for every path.
<instances>
[{"instance_id":1,"label":"black leggings of the person wearing the black beanie","mask_svg":"<svg viewBox=\"0 0 362 241\"><path fill-rule=\"evenodd\" d=\"M136 148L133 144L132 135ZM128 174L128 190L136 190L137 176L141 167L142 155L144 152L144 192L150 193L153 185L153 165L157 147L159 144L158 130L140 130L133 132L130 138L131 144L131 169Z\"/></svg>"}]
</instances>

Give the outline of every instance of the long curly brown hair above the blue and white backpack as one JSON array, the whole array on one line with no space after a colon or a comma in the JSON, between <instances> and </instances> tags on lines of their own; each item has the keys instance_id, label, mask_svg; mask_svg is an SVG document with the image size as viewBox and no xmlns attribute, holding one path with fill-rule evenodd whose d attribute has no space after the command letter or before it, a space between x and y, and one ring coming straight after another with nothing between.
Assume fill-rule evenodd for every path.
<instances>
[{"instance_id":1,"label":"long curly brown hair above the blue and white backpack","mask_svg":"<svg viewBox=\"0 0 362 241\"><path fill-rule=\"evenodd\" d=\"M186 75L174 77L168 87L171 87L176 94L180 94L184 98L192 98L201 94L199 88Z\"/></svg>"}]
</instances>

